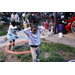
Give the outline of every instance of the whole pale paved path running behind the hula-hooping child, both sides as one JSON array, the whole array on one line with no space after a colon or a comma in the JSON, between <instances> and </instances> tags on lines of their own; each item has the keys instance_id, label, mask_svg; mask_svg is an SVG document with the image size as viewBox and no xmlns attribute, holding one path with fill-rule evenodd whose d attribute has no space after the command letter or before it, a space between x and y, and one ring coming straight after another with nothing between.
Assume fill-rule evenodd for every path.
<instances>
[{"instance_id":1,"label":"whole pale paved path running behind the hula-hooping child, both sides","mask_svg":"<svg viewBox=\"0 0 75 75\"><path fill-rule=\"evenodd\" d=\"M21 38L16 39L16 41L27 40L27 38L28 38L27 35L25 35L22 31L17 32L17 35L20 36ZM8 40L4 41L5 36L0 36L0 47L6 46L9 44ZM58 34L53 35L51 38L45 34L45 36L41 36L41 38L45 38L46 40L49 40L49 41L52 41L55 43L62 43L65 45L75 47L75 34L73 34L73 33L65 34L63 38L59 38Z\"/></svg>"}]
</instances>

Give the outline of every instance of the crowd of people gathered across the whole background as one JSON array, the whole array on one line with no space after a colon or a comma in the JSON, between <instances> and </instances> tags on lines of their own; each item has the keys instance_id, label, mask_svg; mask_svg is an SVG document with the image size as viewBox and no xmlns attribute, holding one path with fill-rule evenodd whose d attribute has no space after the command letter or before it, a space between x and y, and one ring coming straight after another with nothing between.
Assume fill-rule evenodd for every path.
<instances>
[{"instance_id":1,"label":"crowd of people gathered across the whole background","mask_svg":"<svg viewBox=\"0 0 75 75\"><path fill-rule=\"evenodd\" d=\"M58 27L63 24L62 33L71 32L70 28L73 23L72 20L74 21L74 14L74 12L57 12ZM55 12L0 12L0 23L1 25L9 25L14 21L18 30L21 30L21 27L26 29L33 24L43 25L45 28L48 27L47 31L49 31L50 22L54 25L54 17ZM44 25L45 22L49 23L47 27Z\"/></svg>"}]
</instances>

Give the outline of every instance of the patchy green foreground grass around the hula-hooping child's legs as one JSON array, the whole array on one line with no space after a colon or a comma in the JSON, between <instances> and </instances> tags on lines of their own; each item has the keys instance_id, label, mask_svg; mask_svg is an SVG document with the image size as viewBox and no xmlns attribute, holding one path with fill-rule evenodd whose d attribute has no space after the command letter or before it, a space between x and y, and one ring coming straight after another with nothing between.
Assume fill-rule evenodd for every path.
<instances>
[{"instance_id":1,"label":"patchy green foreground grass around the hula-hooping child's legs","mask_svg":"<svg viewBox=\"0 0 75 75\"><path fill-rule=\"evenodd\" d=\"M40 62L67 62L75 59L75 48L64 44L41 42L39 48L40 56L38 59L40 59ZM19 48L19 50L21 49L23 50L23 47ZM31 53L16 56L21 59L21 62L32 61Z\"/></svg>"}]
</instances>

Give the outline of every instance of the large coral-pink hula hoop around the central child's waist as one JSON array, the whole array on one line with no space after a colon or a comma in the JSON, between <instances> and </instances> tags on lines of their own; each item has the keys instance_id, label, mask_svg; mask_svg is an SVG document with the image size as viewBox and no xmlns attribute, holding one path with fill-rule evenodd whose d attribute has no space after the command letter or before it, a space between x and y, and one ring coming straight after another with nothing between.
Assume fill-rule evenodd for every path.
<instances>
[{"instance_id":1,"label":"large coral-pink hula hoop around the central child's waist","mask_svg":"<svg viewBox=\"0 0 75 75\"><path fill-rule=\"evenodd\" d=\"M18 42L29 42L29 40L13 42L13 43L11 43L11 44L7 45L7 46L6 46L6 48L5 48L5 50L6 50L8 53L11 53L11 54L28 54L28 53L30 53L30 52L32 52L32 51L37 50L37 49L38 49L38 47L39 47L39 46L38 46L38 47L37 47L37 48L35 48L34 50L31 50L31 51L25 51L25 52L13 52L13 51L10 51L10 50L8 50L8 49L7 49L7 48L8 48L8 46L10 46L10 45L12 45L12 44L14 44L14 43L18 43Z\"/></svg>"}]
</instances>

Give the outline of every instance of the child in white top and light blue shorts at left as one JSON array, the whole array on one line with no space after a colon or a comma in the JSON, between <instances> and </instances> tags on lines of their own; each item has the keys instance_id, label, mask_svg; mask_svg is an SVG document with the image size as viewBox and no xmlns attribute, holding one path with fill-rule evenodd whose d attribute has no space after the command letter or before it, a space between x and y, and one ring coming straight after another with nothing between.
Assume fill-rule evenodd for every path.
<instances>
[{"instance_id":1,"label":"child in white top and light blue shorts at left","mask_svg":"<svg viewBox=\"0 0 75 75\"><path fill-rule=\"evenodd\" d=\"M7 38L9 40L10 43L15 42L15 37L14 37L14 34L13 32L15 30L17 30L17 26L15 26L15 22L11 22L12 24L9 26L9 30L8 30L8 33L7 33ZM14 44L13 44L14 46ZM11 49L11 45L9 46L9 50Z\"/></svg>"}]
</instances>

